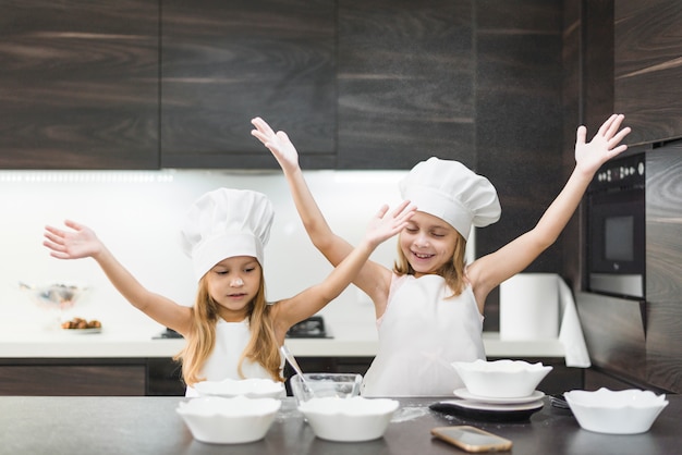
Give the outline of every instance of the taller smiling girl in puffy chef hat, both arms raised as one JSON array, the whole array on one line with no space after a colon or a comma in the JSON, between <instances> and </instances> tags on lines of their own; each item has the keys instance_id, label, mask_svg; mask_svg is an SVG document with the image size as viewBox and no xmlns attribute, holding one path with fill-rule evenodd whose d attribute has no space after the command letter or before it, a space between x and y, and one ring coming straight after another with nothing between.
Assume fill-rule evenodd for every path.
<instances>
[{"instance_id":1,"label":"taller smiling girl in puffy chef hat, both arms raised","mask_svg":"<svg viewBox=\"0 0 682 455\"><path fill-rule=\"evenodd\" d=\"M499 250L464 261L472 226L500 217L490 182L456 161L430 158L400 182L403 198L417 208L400 233L393 270L367 261L353 283L373 299L379 347L365 374L366 396L451 395L463 386L453 361L485 359L483 313L486 297L504 280L523 271L559 236L599 167L625 150L620 142L623 115L612 115L592 142L580 126L575 169L536 226ZM296 209L315 246L339 263L352 246L333 234L313 198L293 144L261 119L252 134L280 163Z\"/></svg>"}]
</instances>

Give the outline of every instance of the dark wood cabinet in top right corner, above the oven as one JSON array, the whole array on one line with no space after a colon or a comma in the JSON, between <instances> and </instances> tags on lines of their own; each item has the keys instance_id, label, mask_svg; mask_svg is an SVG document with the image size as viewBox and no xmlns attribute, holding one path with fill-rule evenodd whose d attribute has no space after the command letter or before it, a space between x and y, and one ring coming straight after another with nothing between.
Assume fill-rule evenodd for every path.
<instances>
[{"instance_id":1,"label":"dark wood cabinet in top right corner, above the oven","mask_svg":"<svg viewBox=\"0 0 682 455\"><path fill-rule=\"evenodd\" d=\"M682 137L682 2L618 0L616 109L632 144Z\"/></svg>"}]
</instances>

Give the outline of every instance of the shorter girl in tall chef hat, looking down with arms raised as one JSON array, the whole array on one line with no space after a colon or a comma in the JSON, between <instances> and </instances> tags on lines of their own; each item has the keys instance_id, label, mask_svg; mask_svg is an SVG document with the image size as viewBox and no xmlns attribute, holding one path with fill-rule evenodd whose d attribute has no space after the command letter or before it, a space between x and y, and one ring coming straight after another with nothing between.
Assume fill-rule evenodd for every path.
<instances>
[{"instance_id":1,"label":"shorter girl in tall chef hat, looking down with arms raised","mask_svg":"<svg viewBox=\"0 0 682 455\"><path fill-rule=\"evenodd\" d=\"M70 230L46 226L44 244L59 259L94 258L133 306L186 339L179 358L187 394L193 395L191 386L204 380L281 381L279 346L287 331L336 298L373 250L400 232L413 213L407 204L391 213L382 207L363 242L325 281L273 305L266 300L263 263L275 212L260 193L220 188L190 209L182 245L198 281L193 307L146 290L85 225L66 221Z\"/></svg>"}]
</instances>

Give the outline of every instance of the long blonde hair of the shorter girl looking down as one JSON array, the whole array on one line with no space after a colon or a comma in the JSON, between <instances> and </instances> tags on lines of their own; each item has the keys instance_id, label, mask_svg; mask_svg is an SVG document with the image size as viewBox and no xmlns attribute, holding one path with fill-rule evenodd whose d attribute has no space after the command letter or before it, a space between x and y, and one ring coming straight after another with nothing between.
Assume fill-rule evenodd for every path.
<instances>
[{"instance_id":1,"label":"long blonde hair of the shorter girl looking down","mask_svg":"<svg viewBox=\"0 0 682 455\"><path fill-rule=\"evenodd\" d=\"M258 292L248 307L248 327L251 339L240 357L238 372L244 378L242 364L244 359L260 364L275 381L282 381L280 376L281 358L275 336L271 305L265 298L265 280L260 268ZM216 345L216 322L218 321L218 304L208 293L206 276L199 280L196 300L192 307L192 327L186 337L185 347L174 357L182 361L182 377L187 385L205 380L200 370Z\"/></svg>"}]
</instances>

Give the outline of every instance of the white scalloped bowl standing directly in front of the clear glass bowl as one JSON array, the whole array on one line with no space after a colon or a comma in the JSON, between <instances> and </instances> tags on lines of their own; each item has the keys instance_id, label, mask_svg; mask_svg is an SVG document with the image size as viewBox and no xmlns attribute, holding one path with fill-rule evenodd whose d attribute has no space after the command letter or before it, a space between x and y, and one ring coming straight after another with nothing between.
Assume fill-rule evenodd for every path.
<instances>
[{"instance_id":1,"label":"white scalloped bowl standing directly in front of the clear glass bowl","mask_svg":"<svg viewBox=\"0 0 682 455\"><path fill-rule=\"evenodd\" d=\"M322 397L299 406L316 436L339 442L379 439L386 432L399 403L388 398Z\"/></svg>"}]
</instances>

